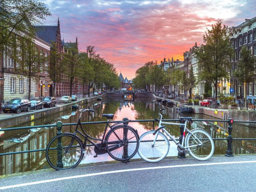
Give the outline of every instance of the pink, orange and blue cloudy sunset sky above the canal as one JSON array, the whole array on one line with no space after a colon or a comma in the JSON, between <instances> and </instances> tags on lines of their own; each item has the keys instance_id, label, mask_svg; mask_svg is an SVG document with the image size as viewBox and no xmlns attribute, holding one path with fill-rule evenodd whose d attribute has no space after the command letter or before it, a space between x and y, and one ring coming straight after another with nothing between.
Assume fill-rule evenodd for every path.
<instances>
[{"instance_id":1,"label":"pink, orange and blue cloudy sunset sky above the canal","mask_svg":"<svg viewBox=\"0 0 256 192\"><path fill-rule=\"evenodd\" d=\"M94 46L116 72L132 79L138 68L163 58L183 60L217 21L238 26L256 17L255 0L41 0L61 25L61 39L86 52Z\"/></svg>"}]
</instances>

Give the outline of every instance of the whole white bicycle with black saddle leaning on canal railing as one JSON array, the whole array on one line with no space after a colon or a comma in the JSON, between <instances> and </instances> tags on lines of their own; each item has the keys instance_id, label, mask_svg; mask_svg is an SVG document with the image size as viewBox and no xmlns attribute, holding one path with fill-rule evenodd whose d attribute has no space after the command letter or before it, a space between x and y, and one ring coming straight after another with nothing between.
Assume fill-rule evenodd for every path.
<instances>
[{"instance_id":1,"label":"whole white bicycle with black saddle leaning on canal railing","mask_svg":"<svg viewBox=\"0 0 256 192\"><path fill-rule=\"evenodd\" d=\"M181 117L181 123L164 122L162 121L162 110L165 110L165 108L160 109L158 128L156 130L144 132L140 136L138 153L142 159L151 163L164 159L168 154L170 146L167 136L175 142L179 152L189 153L197 160L207 160L213 155L214 142L210 134L203 129L188 129L187 125L189 121L192 122L192 117ZM184 126L181 143L176 141L176 139L166 131L165 126L162 126L162 124ZM160 132L161 130L162 132ZM188 132L188 134L185 137L186 132Z\"/></svg>"}]
</instances>

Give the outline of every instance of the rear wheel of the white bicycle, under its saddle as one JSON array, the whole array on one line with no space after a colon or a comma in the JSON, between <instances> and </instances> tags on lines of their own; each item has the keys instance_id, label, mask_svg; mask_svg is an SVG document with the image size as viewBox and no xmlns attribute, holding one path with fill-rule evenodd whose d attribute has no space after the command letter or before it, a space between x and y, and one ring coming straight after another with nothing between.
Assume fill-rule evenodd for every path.
<instances>
[{"instance_id":1,"label":"rear wheel of the white bicycle, under its saddle","mask_svg":"<svg viewBox=\"0 0 256 192\"><path fill-rule=\"evenodd\" d=\"M202 146L193 146L197 144L197 139L201 140ZM214 141L210 134L202 129L194 129L185 138L185 145L193 158L205 161L214 153Z\"/></svg>"}]
</instances>

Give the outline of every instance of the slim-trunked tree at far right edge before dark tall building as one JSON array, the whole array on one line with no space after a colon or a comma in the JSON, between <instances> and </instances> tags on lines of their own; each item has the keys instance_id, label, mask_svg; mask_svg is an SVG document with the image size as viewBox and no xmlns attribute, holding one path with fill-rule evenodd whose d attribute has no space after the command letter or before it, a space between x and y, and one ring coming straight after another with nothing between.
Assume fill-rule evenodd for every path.
<instances>
[{"instance_id":1,"label":"slim-trunked tree at far right edge before dark tall building","mask_svg":"<svg viewBox=\"0 0 256 192\"><path fill-rule=\"evenodd\" d=\"M245 106L247 104L247 84L253 81L253 77L256 75L256 60L252 56L252 53L246 46L242 46L241 60L238 61L237 70L234 76L244 85L244 99Z\"/></svg>"}]
</instances>

